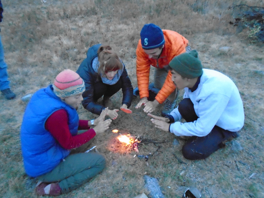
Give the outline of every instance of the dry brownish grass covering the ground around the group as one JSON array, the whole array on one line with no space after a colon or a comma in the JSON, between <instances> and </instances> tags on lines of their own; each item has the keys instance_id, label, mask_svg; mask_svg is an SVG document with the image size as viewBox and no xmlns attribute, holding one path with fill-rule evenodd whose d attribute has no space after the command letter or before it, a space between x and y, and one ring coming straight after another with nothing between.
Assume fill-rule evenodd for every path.
<instances>
[{"instance_id":1,"label":"dry brownish grass covering the ground around the group","mask_svg":"<svg viewBox=\"0 0 264 198\"><path fill-rule=\"evenodd\" d=\"M19 133L26 103L20 98L52 83L63 69L77 70L87 49L97 43L109 43L118 52L135 87L139 32L145 23L152 22L185 36L192 49L199 51L204 68L218 70L236 83L245 110L245 125L237 141L244 149L235 153L232 143L228 143L205 160L183 159L182 140L179 146L173 146L176 137L155 129L149 117L134 108L136 99L131 106L133 114L120 112L111 130L160 142L140 144L140 155L161 148L148 163L134 158L134 151L112 152L108 146L114 134L108 130L92 142L106 155L107 168L81 188L59 197L148 194L143 180L147 174L159 179L165 197L181 197L187 187L195 186L202 197L263 198L264 48L248 40L247 29L237 33L235 27L229 26L235 11L227 9L244 3L263 6L262 0L3 0L2 43L17 98L7 101L0 95L0 197L36 197L35 181L25 175L21 157ZM230 47L230 51L220 51L223 46ZM112 98L117 108L121 98L121 92ZM79 115L81 119L95 117L83 108ZM180 163L172 153L187 164ZM252 173L256 175L249 178Z\"/></svg>"}]
</instances>

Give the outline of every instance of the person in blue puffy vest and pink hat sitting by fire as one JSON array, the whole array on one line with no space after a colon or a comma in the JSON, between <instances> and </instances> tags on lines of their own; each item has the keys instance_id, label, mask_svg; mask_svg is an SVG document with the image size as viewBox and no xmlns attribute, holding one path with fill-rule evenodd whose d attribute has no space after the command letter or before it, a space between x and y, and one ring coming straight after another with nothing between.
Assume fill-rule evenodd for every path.
<instances>
[{"instance_id":1,"label":"person in blue puffy vest and pink hat sitting by fire","mask_svg":"<svg viewBox=\"0 0 264 198\"><path fill-rule=\"evenodd\" d=\"M21 125L21 149L27 175L37 178L37 195L68 193L105 168L95 152L70 154L109 128L108 108L95 120L79 120L83 79L72 70L60 72L52 85L32 96ZM93 129L90 126L95 126ZM87 130L78 134L78 130ZM70 154L70 155L69 155Z\"/></svg>"}]
</instances>

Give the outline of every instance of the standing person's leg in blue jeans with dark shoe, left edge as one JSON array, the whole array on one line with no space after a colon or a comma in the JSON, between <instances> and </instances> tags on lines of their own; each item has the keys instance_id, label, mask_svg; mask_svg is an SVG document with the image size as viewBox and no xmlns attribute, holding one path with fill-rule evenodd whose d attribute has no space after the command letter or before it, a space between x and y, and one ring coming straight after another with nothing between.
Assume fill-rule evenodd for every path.
<instances>
[{"instance_id":1,"label":"standing person's leg in blue jeans with dark shoe, left edge","mask_svg":"<svg viewBox=\"0 0 264 198\"><path fill-rule=\"evenodd\" d=\"M8 81L7 64L4 62L4 49L0 36L0 90L7 99L15 98L16 95L10 90Z\"/></svg>"}]
</instances>

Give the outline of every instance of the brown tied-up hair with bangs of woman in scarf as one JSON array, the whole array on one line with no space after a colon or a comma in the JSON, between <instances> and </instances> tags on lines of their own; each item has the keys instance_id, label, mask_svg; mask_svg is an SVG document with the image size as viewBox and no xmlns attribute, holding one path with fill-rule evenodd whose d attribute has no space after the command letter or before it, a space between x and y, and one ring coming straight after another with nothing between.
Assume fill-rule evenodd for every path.
<instances>
[{"instance_id":1,"label":"brown tied-up hair with bangs of woman in scarf","mask_svg":"<svg viewBox=\"0 0 264 198\"><path fill-rule=\"evenodd\" d=\"M121 63L118 55L109 45L101 45L97 54L98 61L100 63L98 74L105 74L109 71L116 71L123 68L123 64Z\"/></svg>"}]
</instances>

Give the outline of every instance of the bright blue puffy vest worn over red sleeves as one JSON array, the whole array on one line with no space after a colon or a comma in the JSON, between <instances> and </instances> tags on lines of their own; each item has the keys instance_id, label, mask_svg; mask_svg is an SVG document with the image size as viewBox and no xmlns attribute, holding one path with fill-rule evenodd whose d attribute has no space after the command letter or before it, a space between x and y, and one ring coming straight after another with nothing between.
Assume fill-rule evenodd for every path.
<instances>
[{"instance_id":1,"label":"bright blue puffy vest worn over red sleeves","mask_svg":"<svg viewBox=\"0 0 264 198\"><path fill-rule=\"evenodd\" d=\"M54 94L52 85L37 91L26 107L20 138L25 171L31 177L50 172L70 153L45 129L48 117L59 109L67 111L70 133L77 135L77 111Z\"/></svg>"}]
</instances>

